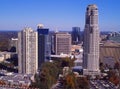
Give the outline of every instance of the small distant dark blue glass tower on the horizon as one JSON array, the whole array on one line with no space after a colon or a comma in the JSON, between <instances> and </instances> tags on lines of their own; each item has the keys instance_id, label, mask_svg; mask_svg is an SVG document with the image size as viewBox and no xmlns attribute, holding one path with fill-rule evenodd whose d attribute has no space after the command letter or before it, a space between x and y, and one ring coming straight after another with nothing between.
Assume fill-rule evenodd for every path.
<instances>
[{"instance_id":1,"label":"small distant dark blue glass tower on the horizon","mask_svg":"<svg viewBox=\"0 0 120 89\"><path fill-rule=\"evenodd\" d=\"M80 44L81 37L80 27L72 27L72 44Z\"/></svg>"}]
</instances>

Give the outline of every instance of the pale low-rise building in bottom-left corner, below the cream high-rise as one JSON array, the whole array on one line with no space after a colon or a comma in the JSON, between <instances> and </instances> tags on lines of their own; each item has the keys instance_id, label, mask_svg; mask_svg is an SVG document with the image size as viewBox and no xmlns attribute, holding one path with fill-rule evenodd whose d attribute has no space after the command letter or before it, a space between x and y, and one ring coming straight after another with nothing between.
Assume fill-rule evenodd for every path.
<instances>
[{"instance_id":1,"label":"pale low-rise building in bottom-left corner, below the cream high-rise","mask_svg":"<svg viewBox=\"0 0 120 89\"><path fill-rule=\"evenodd\" d=\"M32 77L33 75L30 74L6 73L5 76L0 77L0 81L4 82L4 85L10 87L29 88Z\"/></svg>"}]
</instances>

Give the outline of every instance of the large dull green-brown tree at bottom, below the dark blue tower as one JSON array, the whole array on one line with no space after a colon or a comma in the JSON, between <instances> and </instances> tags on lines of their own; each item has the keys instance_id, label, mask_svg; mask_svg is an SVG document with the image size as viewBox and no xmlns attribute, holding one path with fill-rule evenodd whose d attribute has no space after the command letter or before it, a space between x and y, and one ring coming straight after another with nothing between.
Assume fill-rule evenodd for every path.
<instances>
[{"instance_id":1,"label":"large dull green-brown tree at bottom, below the dark blue tower","mask_svg":"<svg viewBox=\"0 0 120 89\"><path fill-rule=\"evenodd\" d=\"M40 89L50 89L56 83L58 68L51 62L45 62L41 66L39 74L35 75L36 86Z\"/></svg>"}]
</instances>

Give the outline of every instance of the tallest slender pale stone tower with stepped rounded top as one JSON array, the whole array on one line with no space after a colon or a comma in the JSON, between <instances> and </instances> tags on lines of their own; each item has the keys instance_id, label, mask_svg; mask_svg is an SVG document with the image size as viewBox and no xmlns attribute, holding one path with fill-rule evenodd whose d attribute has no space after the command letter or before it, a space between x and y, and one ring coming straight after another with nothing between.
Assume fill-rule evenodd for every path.
<instances>
[{"instance_id":1,"label":"tallest slender pale stone tower with stepped rounded top","mask_svg":"<svg viewBox=\"0 0 120 89\"><path fill-rule=\"evenodd\" d=\"M99 28L98 8L95 4L88 5L84 29L84 74L99 73Z\"/></svg>"}]
</instances>

